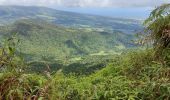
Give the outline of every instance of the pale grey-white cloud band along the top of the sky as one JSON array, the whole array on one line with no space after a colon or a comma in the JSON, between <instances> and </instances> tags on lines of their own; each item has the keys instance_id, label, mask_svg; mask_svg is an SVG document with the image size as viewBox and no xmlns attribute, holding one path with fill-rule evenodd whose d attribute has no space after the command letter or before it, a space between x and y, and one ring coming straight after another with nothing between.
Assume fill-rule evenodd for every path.
<instances>
[{"instance_id":1,"label":"pale grey-white cloud band along the top of the sky","mask_svg":"<svg viewBox=\"0 0 170 100\"><path fill-rule=\"evenodd\" d=\"M155 7L170 0L0 0L0 5L63 7Z\"/></svg>"}]
</instances>

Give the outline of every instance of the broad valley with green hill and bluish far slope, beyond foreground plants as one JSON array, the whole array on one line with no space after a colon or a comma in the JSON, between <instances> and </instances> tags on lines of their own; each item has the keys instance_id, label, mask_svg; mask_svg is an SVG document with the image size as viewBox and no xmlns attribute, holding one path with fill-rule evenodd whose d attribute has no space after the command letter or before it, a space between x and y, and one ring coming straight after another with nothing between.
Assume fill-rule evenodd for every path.
<instances>
[{"instance_id":1,"label":"broad valley with green hill and bluish far slope, beyond foreground plants","mask_svg":"<svg viewBox=\"0 0 170 100\"><path fill-rule=\"evenodd\" d=\"M40 73L45 70L44 61L54 72L73 65L94 67L90 72L95 71L97 65L103 68L107 59L136 48L132 40L136 39L135 32L142 29L140 22L131 19L84 15L45 7L1 6L0 12L0 21L4 22L0 26L1 40L3 36L16 34L20 41L18 52L31 62L31 69L37 68ZM94 59L93 62L84 60L89 58ZM98 64L102 59L106 60ZM81 64L83 61L85 63ZM81 72L84 73L86 71Z\"/></svg>"}]
</instances>

